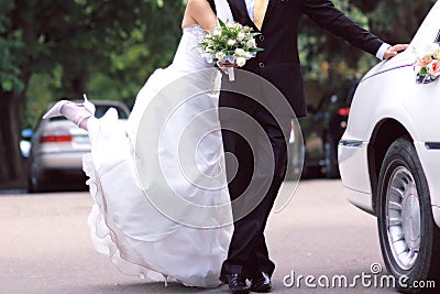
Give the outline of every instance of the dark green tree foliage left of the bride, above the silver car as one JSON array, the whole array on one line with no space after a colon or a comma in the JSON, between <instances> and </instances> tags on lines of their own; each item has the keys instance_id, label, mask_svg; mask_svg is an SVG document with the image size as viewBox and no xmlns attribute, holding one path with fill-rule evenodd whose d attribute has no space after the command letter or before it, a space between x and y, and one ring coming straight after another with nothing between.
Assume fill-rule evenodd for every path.
<instances>
[{"instance_id":1,"label":"dark green tree foliage left of the bride, above the silver car","mask_svg":"<svg viewBox=\"0 0 440 294\"><path fill-rule=\"evenodd\" d=\"M50 100L129 105L147 76L169 64L185 1L1 0L0 99L25 92L23 124ZM41 101L41 102L35 102Z\"/></svg>"}]
</instances>

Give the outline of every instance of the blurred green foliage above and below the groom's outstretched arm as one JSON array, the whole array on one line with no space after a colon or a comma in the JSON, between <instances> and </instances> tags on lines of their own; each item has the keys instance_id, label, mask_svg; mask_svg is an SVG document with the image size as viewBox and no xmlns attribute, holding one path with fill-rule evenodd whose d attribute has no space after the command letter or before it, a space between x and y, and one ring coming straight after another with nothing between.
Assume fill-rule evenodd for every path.
<instances>
[{"instance_id":1,"label":"blurred green foliage above and below the groom's outstretched arm","mask_svg":"<svg viewBox=\"0 0 440 294\"><path fill-rule=\"evenodd\" d=\"M351 19L389 44L409 43L436 0L333 0ZM305 18L298 40L305 78L331 85L360 77L377 59L351 47Z\"/></svg>"}]
</instances>

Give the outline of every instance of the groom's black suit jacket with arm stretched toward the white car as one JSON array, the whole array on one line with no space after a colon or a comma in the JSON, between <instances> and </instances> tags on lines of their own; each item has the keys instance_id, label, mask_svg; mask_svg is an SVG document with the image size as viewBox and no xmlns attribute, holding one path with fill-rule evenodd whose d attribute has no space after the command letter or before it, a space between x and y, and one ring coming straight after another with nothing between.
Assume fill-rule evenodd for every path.
<instances>
[{"instance_id":1,"label":"groom's black suit jacket with arm stretched toward the white car","mask_svg":"<svg viewBox=\"0 0 440 294\"><path fill-rule=\"evenodd\" d=\"M257 30L248 14L244 0L228 0L228 2L235 21ZM307 115L297 46L298 25L302 14L371 54L376 54L383 44L377 36L336 9L330 0L270 0L261 30L262 34L256 36L257 46L264 51L255 58L248 61L243 69L275 85L297 117ZM223 83L228 83L228 79L223 79ZM271 97L266 99L271 100ZM276 104L276 101L272 102ZM231 92L222 92L220 107L233 107L252 112L254 106L250 99L240 99ZM282 107L273 111L275 115L287 115L283 109Z\"/></svg>"}]
</instances>

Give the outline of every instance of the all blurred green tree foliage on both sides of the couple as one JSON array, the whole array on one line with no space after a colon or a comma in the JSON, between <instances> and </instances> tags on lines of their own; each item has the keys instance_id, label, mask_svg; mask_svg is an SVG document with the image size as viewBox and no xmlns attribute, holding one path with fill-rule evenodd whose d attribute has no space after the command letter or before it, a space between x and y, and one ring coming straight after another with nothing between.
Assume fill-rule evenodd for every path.
<instances>
[{"instance_id":1,"label":"all blurred green tree foliage on both sides of the couple","mask_svg":"<svg viewBox=\"0 0 440 294\"><path fill-rule=\"evenodd\" d=\"M333 0L388 43L409 42L435 0ZM122 100L131 106L157 67L167 66L182 35L186 0L0 0L0 99L26 97L23 123L50 100ZM331 84L360 76L376 58L310 20L298 40L305 78ZM330 81L330 83L329 83Z\"/></svg>"}]
</instances>

